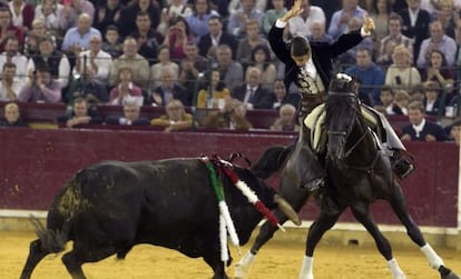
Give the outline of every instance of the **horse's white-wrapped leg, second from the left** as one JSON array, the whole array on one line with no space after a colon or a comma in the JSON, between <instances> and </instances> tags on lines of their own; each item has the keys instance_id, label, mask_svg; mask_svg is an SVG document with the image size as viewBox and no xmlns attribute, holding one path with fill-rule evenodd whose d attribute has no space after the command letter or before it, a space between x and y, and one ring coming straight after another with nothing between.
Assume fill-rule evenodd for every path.
<instances>
[{"instance_id":1,"label":"horse's white-wrapped leg, second from the left","mask_svg":"<svg viewBox=\"0 0 461 279\"><path fill-rule=\"evenodd\" d=\"M324 205L325 200L323 200L320 217L312 223L311 228L308 229L306 239L306 251L300 271L300 279L314 279L315 247L318 245L323 235L336 223L341 213L345 209L334 209L333 207L324 207Z\"/></svg>"}]
</instances>

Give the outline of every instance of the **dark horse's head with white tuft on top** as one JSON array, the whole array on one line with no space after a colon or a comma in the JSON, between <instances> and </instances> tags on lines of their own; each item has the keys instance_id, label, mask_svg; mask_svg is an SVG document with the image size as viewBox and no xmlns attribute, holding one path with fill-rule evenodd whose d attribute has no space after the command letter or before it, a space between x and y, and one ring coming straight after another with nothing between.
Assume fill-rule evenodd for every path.
<instances>
[{"instance_id":1,"label":"dark horse's head with white tuft on top","mask_svg":"<svg viewBox=\"0 0 461 279\"><path fill-rule=\"evenodd\" d=\"M334 160L345 157L347 137L360 112L356 82L344 73L334 76L326 98L327 152Z\"/></svg>"}]
</instances>

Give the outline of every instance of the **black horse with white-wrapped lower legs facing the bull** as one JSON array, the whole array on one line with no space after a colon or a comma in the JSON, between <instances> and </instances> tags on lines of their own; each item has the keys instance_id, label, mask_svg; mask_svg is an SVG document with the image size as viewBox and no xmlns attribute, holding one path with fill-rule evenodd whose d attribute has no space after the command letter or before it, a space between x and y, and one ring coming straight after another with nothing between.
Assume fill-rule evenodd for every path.
<instances>
[{"instance_id":1,"label":"black horse with white-wrapped lower legs facing the bull","mask_svg":"<svg viewBox=\"0 0 461 279\"><path fill-rule=\"evenodd\" d=\"M353 216L373 237L379 251L386 259L393 279L406 278L399 268L392 255L390 242L375 225L370 213L370 205L377 199L386 200L396 217L406 228L406 232L428 258L430 266L438 270L443 279L459 279L448 269L429 243L425 242L420 229L406 211L405 197L398 180L392 175L390 158L385 148L381 148L374 132L369 128L362 113L360 101L354 93L353 81L347 76L339 74L330 84L330 92L324 106L326 111L325 129L327 130L325 170L326 186L314 192L321 212L312 223L306 241L305 257L300 278L313 279L313 255L322 236L331 229L350 208ZM305 163L300 160L296 150L306 148L307 137L301 134L295 147L275 147L258 162L259 172L269 176L281 167L288 156L281 181L281 195L292 203L295 210L301 210L307 201L310 190L303 187L300 179L293 179L296 166ZM293 152L292 152L293 151ZM286 220L282 212L275 212ZM246 278L257 251L276 231L276 228L265 223L251 250L236 266L236 278Z\"/></svg>"}]
</instances>

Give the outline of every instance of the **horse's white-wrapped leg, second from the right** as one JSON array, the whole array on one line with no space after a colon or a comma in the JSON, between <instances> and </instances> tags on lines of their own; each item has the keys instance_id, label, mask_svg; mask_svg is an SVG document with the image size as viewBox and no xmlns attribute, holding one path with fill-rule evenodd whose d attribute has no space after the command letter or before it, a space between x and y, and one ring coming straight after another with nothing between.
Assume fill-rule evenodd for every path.
<instances>
[{"instance_id":1,"label":"horse's white-wrapped leg, second from the right","mask_svg":"<svg viewBox=\"0 0 461 279\"><path fill-rule=\"evenodd\" d=\"M373 217L370 213L369 206L369 203L359 202L351 207L352 213L355 219L357 219L357 221L365 227L370 235L372 235L377 250L380 250L381 255L388 260L388 267L392 272L392 278L405 279L406 276L403 273L402 269L399 267L399 263L392 256L392 247L374 222Z\"/></svg>"}]
</instances>

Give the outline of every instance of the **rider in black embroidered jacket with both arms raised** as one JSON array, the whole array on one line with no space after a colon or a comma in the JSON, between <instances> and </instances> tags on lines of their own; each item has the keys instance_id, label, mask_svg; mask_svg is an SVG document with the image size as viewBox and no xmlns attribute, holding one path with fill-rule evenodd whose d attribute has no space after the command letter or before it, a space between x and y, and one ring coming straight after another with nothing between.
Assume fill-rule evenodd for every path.
<instances>
[{"instance_id":1,"label":"rider in black embroidered jacket with both arms raised","mask_svg":"<svg viewBox=\"0 0 461 279\"><path fill-rule=\"evenodd\" d=\"M310 114L316 106L324 102L326 89L331 80L331 72L333 71L333 59L359 44L364 37L371 36L375 28L373 19L363 16L364 22L360 30L344 33L333 43L310 43L306 37L295 36L292 39L291 44L287 46L283 40L284 28L290 19L297 17L303 12L303 9L301 8L302 2L303 0L295 0L293 7L282 18L277 19L267 34L272 50L277 58L285 63L284 82L286 88L290 88L290 84L295 82L300 90L301 123L304 122L304 118ZM393 171L398 177L403 179L410 175L414 167L401 156L402 151L406 152L405 147L395 134L389 121L380 112L376 111L376 113L381 120L379 122L381 122L382 129L385 131L385 145L392 153L391 163L393 166ZM305 127L302 130L305 130ZM315 157L314 151L311 150L311 155L308 156ZM306 161L313 160L311 159ZM314 161L320 165L317 160ZM312 171L313 169L318 168L307 168L304 171ZM317 178L323 178L324 176L324 173L318 173ZM312 173L310 173L310 179L311 177Z\"/></svg>"}]
</instances>

